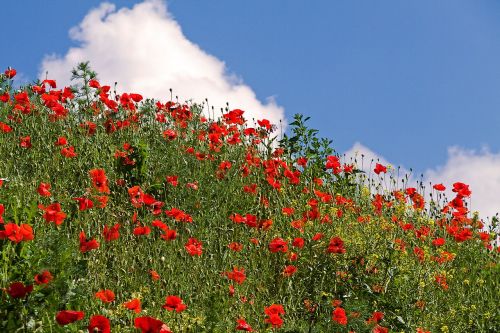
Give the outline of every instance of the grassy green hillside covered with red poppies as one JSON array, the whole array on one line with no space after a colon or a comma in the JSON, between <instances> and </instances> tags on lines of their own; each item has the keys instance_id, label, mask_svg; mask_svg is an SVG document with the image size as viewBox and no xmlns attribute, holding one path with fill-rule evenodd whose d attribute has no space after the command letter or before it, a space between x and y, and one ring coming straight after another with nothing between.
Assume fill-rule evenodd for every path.
<instances>
[{"instance_id":1,"label":"grassy green hillside covered with red poppies","mask_svg":"<svg viewBox=\"0 0 500 333\"><path fill-rule=\"evenodd\" d=\"M459 179L72 74L0 74L0 332L500 331L498 221Z\"/></svg>"}]
</instances>

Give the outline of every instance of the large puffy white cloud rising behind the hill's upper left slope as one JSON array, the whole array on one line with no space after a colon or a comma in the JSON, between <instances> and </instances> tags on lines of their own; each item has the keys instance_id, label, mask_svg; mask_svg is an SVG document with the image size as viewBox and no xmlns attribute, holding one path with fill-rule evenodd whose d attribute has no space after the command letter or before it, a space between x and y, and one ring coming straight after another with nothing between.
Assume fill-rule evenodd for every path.
<instances>
[{"instance_id":1,"label":"large puffy white cloud rising behind the hill's upper left slope","mask_svg":"<svg viewBox=\"0 0 500 333\"><path fill-rule=\"evenodd\" d=\"M117 81L122 92L165 101L172 88L180 101L203 103L208 98L216 116L228 102L231 109L244 110L247 120L284 122L284 110L273 98L259 101L249 86L227 72L223 61L189 41L161 0L131 9L103 3L70 30L70 37L78 46L63 56L46 56L40 77L48 71L59 85L69 85L71 69L90 61L101 82Z\"/></svg>"}]
</instances>

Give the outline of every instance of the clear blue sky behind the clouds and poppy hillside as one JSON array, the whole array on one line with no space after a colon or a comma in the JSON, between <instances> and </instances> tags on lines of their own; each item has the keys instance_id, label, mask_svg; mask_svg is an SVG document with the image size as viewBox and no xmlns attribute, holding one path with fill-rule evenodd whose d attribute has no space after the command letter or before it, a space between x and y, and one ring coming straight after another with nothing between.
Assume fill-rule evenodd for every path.
<instances>
[{"instance_id":1,"label":"clear blue sky behind the clouds and poppy hillside","mask_svg":"<svg viewBox=\"0 0 500 333\"><path fill-rule=\"evenodd\" d=\"M110 2L118 10L141 1ZM8 15L2 15L0 63L36 78L44 56L64 58L69 47L81 46L68 31L100 3L2 4ZM500 166L500 2L170 0L167 6L185 38L223 62L263 105L273 96L288 119L311 116L310 125L338 152L359 142L385 161L445 180L467 179L480 172L470 170L474 163L489 163L499 184L489 196L500 194L493 171Z\"/></svg>"}]
</instances>

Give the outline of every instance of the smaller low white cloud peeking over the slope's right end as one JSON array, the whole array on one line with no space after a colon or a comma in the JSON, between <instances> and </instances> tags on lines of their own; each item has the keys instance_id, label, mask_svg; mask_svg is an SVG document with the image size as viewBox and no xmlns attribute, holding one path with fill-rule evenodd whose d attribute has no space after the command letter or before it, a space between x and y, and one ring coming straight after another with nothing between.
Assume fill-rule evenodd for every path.
<instances>
[{"instance_id":1,"label":"smaller low white cloud peeking over the slope's right end","mask_svg":"<svg viewBox=\"0 0 500 333\"><path fill-rule=\"evenodd\" d=\"M347 162L351 158L353 160L356 158L357 165L361 168L361 154L364 155L362 169L367 173L373 170L372 160L384 165L398 165L389 162L359 142L356 142L344 155ZM408 171L400 168L402 175ZM472 191L469 202L472 211L479 211L483 218L492 217L500 212L500 153L492 153L487 148L474 151L451 147L448 149L448 159L444 165L429 168L424 172L423 183L443 183L447 187L448 198L454 197L451 189L456 182L469 185ZM415 186L417 184L415 177L410 176L408 184Z\"/></svg>"}]
</instances>

